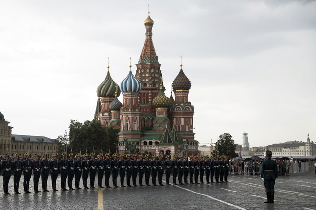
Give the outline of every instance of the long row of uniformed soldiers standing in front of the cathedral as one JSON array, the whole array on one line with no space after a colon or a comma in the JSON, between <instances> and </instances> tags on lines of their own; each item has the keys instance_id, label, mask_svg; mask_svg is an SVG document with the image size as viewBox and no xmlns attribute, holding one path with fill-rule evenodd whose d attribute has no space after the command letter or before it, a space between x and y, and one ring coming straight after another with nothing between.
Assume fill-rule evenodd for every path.
<instances>
[{"instance_id":1,"label":"long row of uniformed soldiers standing in front of the cathedral","mask_svg":"<svg viewBox=\"0 0 316 210\"><path fill-rule=\"evenodd\" d=\"M115 188L119 187L117 178L120 175L120 185L124 186L124 179L128 187L146 186L164 186L162 178L166 176L166 185L170 184L170 176L172 175L172 183L174 185L183 184L200 184L204 182L204 174L206 175L206 183L223 183L228 182L229 162L228 157L209 157L195 156L189 157L181 155L173 155L172 157L161 156L150 157L148 154L142 155L110 155L106 153L103 156L101 153L95 158L95 154L76 154L73 157L70 154L62 153L62 158L57 159L55 154L52 155L52 160L48 160L47 154L42 154L39 158L38 154L34 155L34 159L30 160L29 153L24 154L24 160L20 160L20 154L15 154L15 160L11 161L8 154L5 154L6 160L2 161L1 171L3 175L3 191L4 194L10 194L9 181L13 175L14 193L20 194L19 183L23 175L24 193L30 192L30 179L33 174L34 192L39 193L39 180L41 178L42 191L48 192L47 181L48 176L51 176L52 189L58 191L56 182L58 175L61 179L61 190L75 190L80 188L80 179L82 178L83 187L85 189L94 189L95 177L98 174L98 188L103 187L103 177L105 177L105 187L111 188L110 178L112 175L112 183ZM158 175L158 185L156 179ZM194 175L194 181L193 181ZM214 181L215 176L215 181ZM145 177L145 178L144 178ZM87 185L87 180L90 179L90 186ZM137 182L138 178L138 182ZM74 187L73 188L73 179ZM131 182L132 179L132 182ZM178 183L177 183L178 180ZM66 185L67 181L67 185ZM199 182L200 181L200 182ZM138 184L138 185L137 185ZM68 189L67 189L68 188Z\"/></svg>"}]
</instances>

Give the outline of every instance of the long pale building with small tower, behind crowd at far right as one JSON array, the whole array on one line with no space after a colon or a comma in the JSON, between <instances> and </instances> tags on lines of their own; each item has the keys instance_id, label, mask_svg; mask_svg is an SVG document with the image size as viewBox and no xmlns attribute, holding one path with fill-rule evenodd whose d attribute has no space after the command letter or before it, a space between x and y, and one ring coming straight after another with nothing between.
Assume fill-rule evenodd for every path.
<instances>
[{"instance_id":1,"label":"long pale building with small tower, behind crowd at far right","mask_svg":"<svg viewBox=\"0 0 316 210\"><path fill-rule=\"evenodd\" d=\"M307 134L306 142L289 141L279 144L268 145L266 150L273 152L273 157L315 157L316 144L311 142Z\"/></svg>"}]
</instances>

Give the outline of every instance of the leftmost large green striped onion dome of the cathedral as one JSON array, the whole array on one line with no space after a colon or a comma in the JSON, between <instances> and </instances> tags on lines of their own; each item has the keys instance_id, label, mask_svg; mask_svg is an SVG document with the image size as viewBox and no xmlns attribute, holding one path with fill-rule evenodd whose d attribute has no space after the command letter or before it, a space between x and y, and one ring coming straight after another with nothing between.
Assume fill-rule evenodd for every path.
<instances>
[{"instance_id":1,"label":"leftmost large green striped onion dome of the cathedral","mask_svg":"<svg viewBox=\"0 0 316 210\"><path fill-rule=\"evenodd\" d=\"M105 80L97 88L98 97L115 97L115 87L118 87L118 84L113 81L110 75L110 66L107 66L107 69ZM120 96L120 93L119 89L117 95Z\"/></svg>"}]
</instances>

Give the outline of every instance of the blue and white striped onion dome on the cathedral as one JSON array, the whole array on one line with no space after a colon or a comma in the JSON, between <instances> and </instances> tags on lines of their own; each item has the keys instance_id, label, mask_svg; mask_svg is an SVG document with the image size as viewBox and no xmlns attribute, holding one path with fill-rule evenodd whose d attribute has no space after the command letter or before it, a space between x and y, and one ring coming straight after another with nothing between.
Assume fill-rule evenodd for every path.
<instances>
[{"instance_id":1,"label":"blue and white striped onion dome on the cathedral","mask_svg":"<svg viewBox=\"0 0 316 210\"><path fill-rule=\"evenodd\" d=\"M129 66L130 70L127 77L121 81L120 89L122 93L139 93L141 90L140 81L132 74L132 66Z\"/></svg>"}]
</instances>

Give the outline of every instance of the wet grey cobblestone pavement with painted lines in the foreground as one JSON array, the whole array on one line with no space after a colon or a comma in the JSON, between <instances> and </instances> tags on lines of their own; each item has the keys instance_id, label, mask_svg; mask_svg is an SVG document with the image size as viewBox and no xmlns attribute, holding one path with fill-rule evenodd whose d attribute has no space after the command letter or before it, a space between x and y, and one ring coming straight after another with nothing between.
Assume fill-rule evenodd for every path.
<instances>
[{"instance_id":1,"label":"wet grey cobblestone pavement with painted lines in the foreground","mask_svg":"<svg viewBox=\"0 0 316 210\"><path fill-rule=\"evenodd\" d=\"M266 200L266 196L263 181L259 176L229 175L228 181L230 182L217 184L60 191L59 176L57 182L58 192L52 191L51 179L49 177L48 190L50 190L50 192L34 193L33 178L31 178L30 191L32 193L24 194L22 176L20 182L21 194L18 195L14 194L12 176L9 186L9 192L12 194L0 195L2 198L0 199L0 209L125 210L137 208L140 210L316 210L316 174L314 174L314 172L304 173L298 176L279 176L275 186L274 204L263 203ZM112 177L110 182L112 184ZM118 184L120 183L119 178L117 182ZM143 184L144 182L145 180L143 180ZM3 178L1 176L1 191L2 183ZM105 185L104 178L103 185ZM41 188L41 181L39 186ZM82 180L80 186L82 187ZM97 178L95 187L96 186Z\"/></svg>"}]
</instances>

